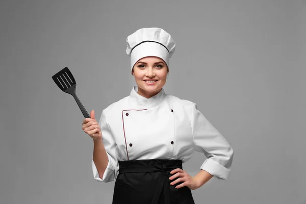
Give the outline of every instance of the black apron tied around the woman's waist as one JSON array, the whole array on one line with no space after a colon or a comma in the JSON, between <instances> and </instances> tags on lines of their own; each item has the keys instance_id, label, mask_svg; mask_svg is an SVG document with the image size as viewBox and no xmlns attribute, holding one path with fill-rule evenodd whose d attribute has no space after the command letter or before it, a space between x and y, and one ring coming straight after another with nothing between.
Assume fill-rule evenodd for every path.
<instances>
[{"instance_id":1,"label":"black apron tied around the woman's waist","mask_svg":"<svg viewBox=\"0 0 306 204\"><path fill-rule=\"evenodd\" d=\"M190 188L176 189L179 177L169 180L170 171L182 167L182 160L130 160L118 161L113 204L194 204Z\"/></svg>"}]
</instances>

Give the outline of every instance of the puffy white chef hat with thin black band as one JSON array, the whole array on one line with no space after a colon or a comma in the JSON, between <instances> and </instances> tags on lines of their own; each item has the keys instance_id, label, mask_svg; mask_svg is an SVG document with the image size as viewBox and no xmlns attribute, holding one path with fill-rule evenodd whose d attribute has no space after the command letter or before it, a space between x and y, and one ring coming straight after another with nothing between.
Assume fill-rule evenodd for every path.
<instances>
[{"instance_id":1,"label":"puffy white chef hat with thin black band","mask_svg":"<svg viewBox=\"0 0 306 204\"><path fill-rule=\"evenodd\" d=\"M126 54L131 56L131 71L135 63L147 56L163 59L169 67L169 58L175 50L171 35L160 28L142 28L126 38Z\"/></svg>"}]
</instances>

